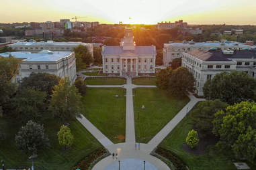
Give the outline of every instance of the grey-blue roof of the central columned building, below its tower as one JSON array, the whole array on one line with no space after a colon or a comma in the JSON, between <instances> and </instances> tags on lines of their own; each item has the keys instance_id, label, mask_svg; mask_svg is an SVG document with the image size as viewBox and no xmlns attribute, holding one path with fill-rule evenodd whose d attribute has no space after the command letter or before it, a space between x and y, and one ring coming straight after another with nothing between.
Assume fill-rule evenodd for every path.
<instances>
[{"instance_id":1,"label":"grey-blue roof of the central columned building, below its tower","mask_svg":"<svg viewBox=\"0 0 256 170\"><path fill-rule=\"evenodd\" d=\"M123 50L122 46L103 46L102 55L134 53L138 55L157 55L155 46L135 46L135 50Z\"/></svg>"}]
</instances>

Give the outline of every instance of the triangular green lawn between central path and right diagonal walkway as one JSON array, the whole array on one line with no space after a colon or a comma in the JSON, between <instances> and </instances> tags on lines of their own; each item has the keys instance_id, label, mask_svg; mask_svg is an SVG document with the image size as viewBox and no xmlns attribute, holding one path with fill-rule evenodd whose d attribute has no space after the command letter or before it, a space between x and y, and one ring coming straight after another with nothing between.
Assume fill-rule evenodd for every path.
<instances>
[{"instance_id":1,"label":"triangular green lawn between central path and right diagonal walkway","mask_svg":"<svg viewBox=\"0 0 256 170\"><path fill-rule=\"evenodd\" d=\"M148 143L173 118L189 98L167 96L158 88L134 89L134 118L136 141ZM142 109L142 105L145 109ZM139 112L139 119L137 113Z\"/></svg>"}]
</instances>

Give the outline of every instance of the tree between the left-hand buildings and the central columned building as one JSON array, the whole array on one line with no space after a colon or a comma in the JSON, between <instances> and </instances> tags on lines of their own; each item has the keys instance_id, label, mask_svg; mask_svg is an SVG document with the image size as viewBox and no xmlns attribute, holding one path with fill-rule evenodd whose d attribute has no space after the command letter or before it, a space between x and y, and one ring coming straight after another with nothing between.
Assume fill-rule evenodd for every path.
<instances>
[{"instance_id":1,"label":"tree between the left-hand buildings and the central columned building","mask_svg":"<svg viewBox=\"0 0 256 170\"><path fill-rule=\"evenodd\" d=\"M74 48L77 70L80 70L84 65L89 65L93 62L93 57L86 46L79 45Z\"/></svg>"}]
</instances>

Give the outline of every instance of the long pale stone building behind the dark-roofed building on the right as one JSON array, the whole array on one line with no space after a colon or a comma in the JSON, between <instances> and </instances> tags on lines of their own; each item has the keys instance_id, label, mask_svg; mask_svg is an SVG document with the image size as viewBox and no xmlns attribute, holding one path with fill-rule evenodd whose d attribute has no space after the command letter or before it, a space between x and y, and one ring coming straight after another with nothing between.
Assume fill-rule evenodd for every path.
<instances>
[{"instance_id":1,"label":"long pale stone building behind the dark-roofed building on the right","mask_svg":"<svg viewBox=\"0 0 256 170\"><path fill-rule=\"evenodd\" d=\"M170 66L170 62L174 58L181 58L182 52L191 52L194 50L210 50L210 48L218 48L220 50L244 50L251 48L245 44L237 42L224 41L221 42L202 42L196 43L194 41L183 41L182 43L164 44L163 48L163 65Z\"/></svg>"}]
</instances>

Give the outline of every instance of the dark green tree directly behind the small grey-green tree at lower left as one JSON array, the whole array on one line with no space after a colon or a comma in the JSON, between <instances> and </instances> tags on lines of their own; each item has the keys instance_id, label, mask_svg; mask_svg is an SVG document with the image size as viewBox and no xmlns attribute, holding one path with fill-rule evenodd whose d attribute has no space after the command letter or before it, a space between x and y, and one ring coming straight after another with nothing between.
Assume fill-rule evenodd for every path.
<instances>
[{"instance_id":1,"label":"dark green tree directly behind the small grey-green tree at lower left","mask_svg":"<svg viewBox=\"0 0 256 170\"><path fill-rule=\"evenodd\" d=\"M33 120L39 122L46 116L47 104L44 102L45 92L23 88L17 92L17 96L11 99L13 103L13 117L22 122Z\"/></svg>"}]
</instances>

